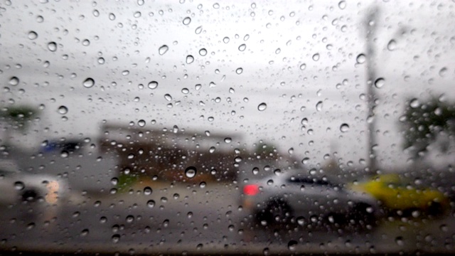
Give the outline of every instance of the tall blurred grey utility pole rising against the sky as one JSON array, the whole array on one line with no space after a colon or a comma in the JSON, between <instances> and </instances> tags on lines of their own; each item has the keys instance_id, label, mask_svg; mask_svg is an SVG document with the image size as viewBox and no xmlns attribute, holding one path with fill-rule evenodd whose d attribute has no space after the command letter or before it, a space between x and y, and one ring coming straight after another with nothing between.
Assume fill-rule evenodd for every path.
<instances>
[{"instance_id":1,"label":"tall blurred grey utility pole rising against the sky","mask_svg":"<svg viewBox=\"0 0 455 256\"><path fill-rule=\"evenodd\" d=\"M368 103L368 172L375 174L378 168L378 162L376 159L377 152L374 148L377 147L376 142L376 117L375 108L377 106L376 100L378 96L375 91L375 80L376 78L376 53L375 53L375 33L378 26L378 6L373 6L368 11L365 20L363 21L365 29L365 43L366 43L366 67L367 67L367 103Z\"/></svg>"}]
</instances>

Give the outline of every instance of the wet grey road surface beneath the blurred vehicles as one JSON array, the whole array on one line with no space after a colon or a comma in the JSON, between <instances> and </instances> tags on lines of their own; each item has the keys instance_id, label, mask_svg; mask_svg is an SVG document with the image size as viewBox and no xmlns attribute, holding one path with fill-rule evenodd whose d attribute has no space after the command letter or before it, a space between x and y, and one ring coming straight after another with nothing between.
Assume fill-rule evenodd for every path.
<instances>
[{"instance_id":1,"label":"wet grey road surface beneath the blurred vehicles","mask_svg":"<svg viewBox=\"0 0 455 256\"><path fill-rule=\"evenodd\" d=\"M251 228L234 185L152 189L73 193L59 208L5 206L0 213L0 248L128 254L455 252L453 213L390 217L372 230Z\"/></svg>"}]
</instances>

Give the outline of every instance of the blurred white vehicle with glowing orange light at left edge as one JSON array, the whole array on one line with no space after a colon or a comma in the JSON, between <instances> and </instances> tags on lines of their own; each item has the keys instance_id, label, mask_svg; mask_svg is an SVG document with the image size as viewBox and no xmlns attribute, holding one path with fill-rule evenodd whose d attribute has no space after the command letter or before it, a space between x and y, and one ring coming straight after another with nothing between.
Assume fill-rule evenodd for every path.
<instances>
[{"instance_id":1,"label":"blurred white vehicle with glowing orange light at left edge","mask_svg":"<svg viewBox=\"0 0 455 256\"><path fill-rule=\"evenodd\" d=\"M68 196L68 184L44 174L19 171L13 161L0 161L0 204L55 206Z\"/></svg>"}]
</instances>

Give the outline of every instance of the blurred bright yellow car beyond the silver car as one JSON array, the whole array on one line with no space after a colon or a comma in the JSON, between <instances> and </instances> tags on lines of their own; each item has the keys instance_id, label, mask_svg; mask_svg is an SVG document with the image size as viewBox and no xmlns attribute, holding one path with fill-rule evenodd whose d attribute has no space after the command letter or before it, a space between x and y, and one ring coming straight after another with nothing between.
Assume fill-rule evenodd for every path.
<instances>
[{"instance_id":1,"label":"blurred bright yellow car beyond the silver car","mask_svg":"<svg viewBox=\"0 0 455 256\"><path fill-rule=\"evenodd\" d=\"M353 188L370 193L384 208L392 212L401 210L406 214L421 210L439 215L449 208L449 198L444 196L444 193L407 181L399 174L376 176L370 181L354 185Z\"/></svg>"}]
</instances>

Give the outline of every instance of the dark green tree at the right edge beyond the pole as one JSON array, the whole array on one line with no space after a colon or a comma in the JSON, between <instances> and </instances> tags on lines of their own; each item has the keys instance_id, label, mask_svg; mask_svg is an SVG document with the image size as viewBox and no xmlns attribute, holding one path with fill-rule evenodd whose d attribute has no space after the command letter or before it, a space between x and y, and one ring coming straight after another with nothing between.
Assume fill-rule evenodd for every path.
<instances>
[{"instance_id":1,"label":"dark green tree at the right edge beyond the pole","mask_svg":"<svg viewBox=\"0 0 455 256\"><path fill-rule=\"evenodd\" d=\"M439 150L446 152L455 141L455 103L431 97L421 101L417 98L407 100L405 114L400 118L404 148L414 157L424 156L428 146L439 140ZM445 139L449 138L449 139Z\"/></svg>"}]
</instances>

